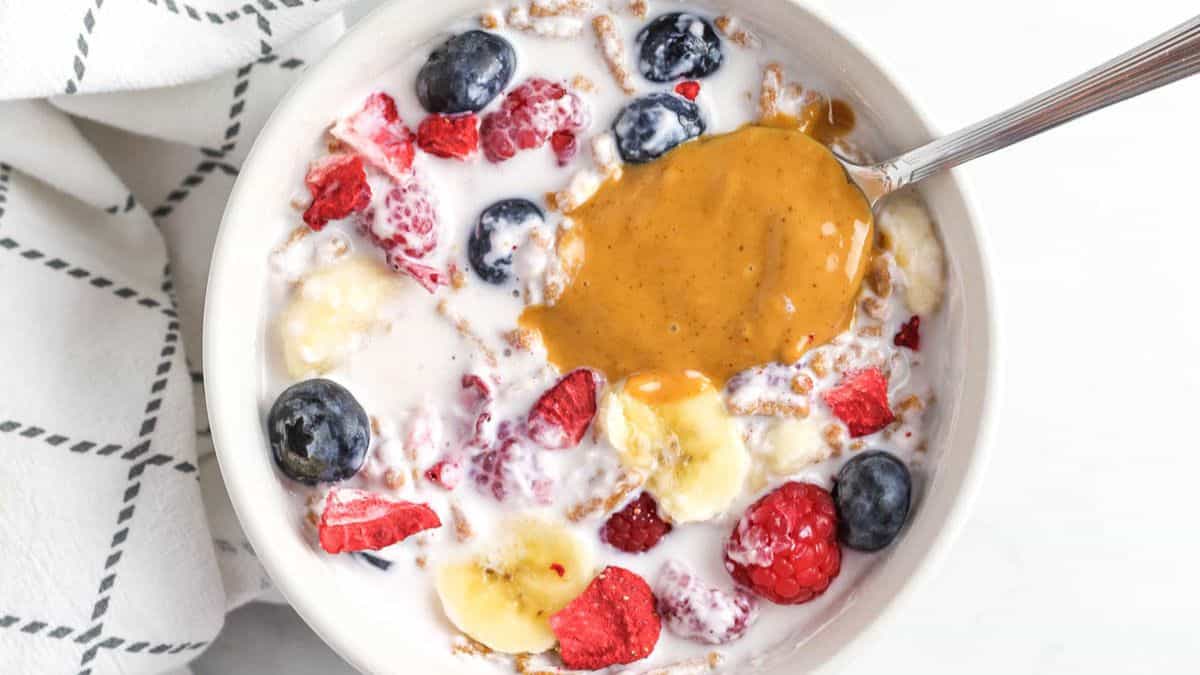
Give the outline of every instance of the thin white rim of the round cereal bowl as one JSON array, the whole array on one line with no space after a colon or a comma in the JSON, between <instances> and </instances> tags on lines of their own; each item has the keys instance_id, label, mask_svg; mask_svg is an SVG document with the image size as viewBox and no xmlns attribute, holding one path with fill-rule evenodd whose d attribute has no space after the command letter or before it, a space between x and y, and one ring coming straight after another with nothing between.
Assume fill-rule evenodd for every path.
<instances>
[{"instance_id":1,"label":"thin white rim of the round cereal bowl","mask_svg":"<svg viewBox=\"0 0 1200 675\"><path fill-rule=\"evenodd\" d=\"M229 235L229 229L233 227L230 221L234 220L232 214L235 214L239 210L239 204L247 198L253 197L252 195L247 195L251 189L248 187L250 179L246 177L252 173L248 169L256 166L256 162L259 160L259 155L263 154L263 148L269 144L269 139L284 133L286 118L295 117L298 107L302 103L302 101L316 94L318 83L336 74L334 68L337 55L349 52L354 44L366 42L367 36L373 34L383 24L383 22L398 18L402 12L401 7L414 1L415 0L390 0L383 2L380 6L372 10L366 17L360 19L355 25L350 26L350 29L341 36L337 43L330 47L329 50L323 54L319 60L313 62L292 85L268 117L260 133L254 139L250 153L242 162L242 171L230 191L229 199L221 219L209 271L203 322L204 380L205 393L209 401L210 428L212 430L212 442L216 450L217 462L221 468L226 489L229 494L229 500L234 507L234 512L236 513L246 537L251 542L268 575L293 609L295 609L301 619L322 638L323 641L325 641L325 644L337 652L338 656L346 659L354 668L365 673L372 671L372 663L377 662L368 659L365 653L356 653L355 650L350 647L350 640L348 639L347 632L336 621L336 617L331 616L331 613L323 611L314 596L302 587L301 579L299 579L296 574L288 571L288 561L278 555L278 552L270 545L272 538L278 536L278 532L271 530L264 521L264 518L260 518L250 503L248 490L251 486L239 484L239 480L236 479L239 458L236 456L235 449L239 447L240 437L239 429L235 429L234 424L227 423L227 417L229 416L223 412L224 410L228 410L228 406L224 404L227 396L223 394L227 392L227 382L233 380L233 377L227 380L224 376L229 369L223 366L226 358L221 346L226 346L229 340L224 338L221 328L224 325L226 321L224 309L221 303L222 292L220 292L220 289L228 286L224 279L228 274L224 270L230 268L234 261L240 257L239 251L230 250L232 237ZM936 136L937 130L932 124L930 124L925 110L908 96L907 92L911 91L911 88L905 86L902 79L887 67L884 62L865 46L863 40L856 36L852 28L838 22L832 16L832 12L818 6L818 4L806 0L760 1L774 1L778 4L793 5L800 11L810 14L816 23L822 24L823 28L830 34L844 40L852 50L858 53L864 66L874 68L883 80L890 84L895 91L901 94L904 104L907 106L912 110L913 115L919 120L923 126L923 131L928 132L930 137ZM469 7L479 4L479 0L451 0L444 2L445 6L455 6L455 11L451 13L461 13L458 11L460 6ZM420 32L420 29L414 30L414 32ZM978 286L978 291L985 305L985 311L983 312L985 324L979 328L982 329L988 351L986 358L984 359L986 372L984 374L985 383L983 390L980 392L974 443L970 452L966 470L954 486L954 494L950 496L950 506L944 512L941 527L930 540L929 546L924 550L924 554L917 560L911 574L882 599L871 616L858 622L858 626L854 627L852 634L844 639L835 651L820 659L817 669L822 671L833 671L845 668L859 651L858 647L865 644L865 641L875 634L875 632L878 631L890 616L894 615L896 608L910 599L912 595L926 584L929 579L941 568L950 546L958 538L964 524L970 516L973 503L978 497L983 474L985 473L986 464L990 456L995 431L996 402L998 400L998 392L1001 388L1001 369L998 368L1000 345L997 342L1000 306L995 297L995 281L991 264L989 262L991 257L991 247L988 241L986 232L980 226L978 209L972 196L972 189L967 185L967 181L958 171L947 172L944 179L948 181L950 190L956 193L966 215L964 222L956 223L956 226L968 228L974 238L978 253L978 269L973 270L976 274L974 285ZM288 536L292 536L292 533L293 531L289 530Z\"/></svg>"}]
</instances>

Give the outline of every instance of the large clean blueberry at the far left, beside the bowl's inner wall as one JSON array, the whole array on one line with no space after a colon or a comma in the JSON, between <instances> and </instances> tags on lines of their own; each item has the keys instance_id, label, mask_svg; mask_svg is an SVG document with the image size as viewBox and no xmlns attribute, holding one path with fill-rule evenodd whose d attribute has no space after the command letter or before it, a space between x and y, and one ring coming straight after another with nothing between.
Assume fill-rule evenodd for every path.
<instances>
[{"instance_id":1,"label":"large clean blueberry at the far left, beside the bowl's inner wall","mask_svg":"<svg viewBox=\"0 0 1200 675\"><path fill-rule=\"evenodd\" d=\"M280 470L307 485L358 473L371 442L366 411L329 380L306 380L284 389L266 416L266 435Z\"/></svg>"}]
</instances>

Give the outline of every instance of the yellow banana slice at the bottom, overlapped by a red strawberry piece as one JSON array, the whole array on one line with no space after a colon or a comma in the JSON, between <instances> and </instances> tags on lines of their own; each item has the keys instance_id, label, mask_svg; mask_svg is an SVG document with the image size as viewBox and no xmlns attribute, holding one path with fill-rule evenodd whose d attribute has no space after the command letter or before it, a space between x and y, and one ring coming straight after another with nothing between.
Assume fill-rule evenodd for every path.
<instances>
[{"instance_id":1,"label":"yellow banana slice at the bottom, overlapped by a red strawberry piece","mask_svg":"<svg viewBox=\"0 0 1200 675\"><path fill-rule=\"evenodd\" d=\"M564 525L521 516L492 549L437 571L442 608L460 631L503 653L554 646L550 616L587 587L592 549Z\"/></svg>"}]
</instances>

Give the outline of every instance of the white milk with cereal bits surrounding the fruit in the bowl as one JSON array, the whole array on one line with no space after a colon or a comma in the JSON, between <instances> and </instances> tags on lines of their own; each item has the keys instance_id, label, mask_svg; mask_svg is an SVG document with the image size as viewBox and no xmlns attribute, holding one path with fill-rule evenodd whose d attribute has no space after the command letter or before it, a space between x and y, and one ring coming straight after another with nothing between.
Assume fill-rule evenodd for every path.
<instances>
[{"instance_id":1,"label":"white milk with cereal bits surrounding the fruit in the bowl","mask_svg":"<svg viewBox=\"0 0 1200 675\"><path fill-rule=\"evenodd\" d=\"M719 31L720 67L696 78L700 92L695 104L703 118L703 137L752 124L778 127L780 117L785 126L803 127L814 104L828 110L829 101L842 94L814 64L798 62L785 44L775 43L769 31L725 20L731 13L737 18L732 4L692 6L658 1L649 4L644 16L640 16L638 5L624 0L534 2L517 5L514 12L497 6L485 16L484 25L512 44L517 60L508 86L479 115L494 110L505 92L517 84L540 77L562 83L577 95L588 121L575 132L578 153L565 166L558 166L548 143L520 150L503 162L488 161L480 151L466 161L415 151L413 171L430 193L437 214L437 246L420 262L439 270L449 281L433 293L385 267L380 249L360 229L358 214L334 220L319 232L296 233L304 226L300 211L308 198L302 185L296 186L300 208L294 217L264 223L278 229L280 246L263 252L272 274L265 289L269 313L263 318L263 344L268 348L263 354L262 408L270 408L281 392L301 380L325 377L342 384L371 417L372 432L365 465L336 488L426 503L443 522L439 528L365 551L370 558L358 552L332 555L317 544L313 522L334 485L307 486L281 473L280 486L263 486L295 496L296 536L312 542L317 555L330 558L334 574L346 579L347 589L370 586L374 597L364 598L364 603L385 602L395 607L397 670L402 669L402 644L444 652L446 671L563 668L553 650L529 661L502 653L474 653L487 650L472 647L463 640L436 591L434 580L444 566L476 555L496 555L492 544L504 537L504 528L515 515L534 514L571 532L596 572L619 566L641 575L653 589L664 566L679 561L706 584L732 592L734 583L724 562L726 539L744 510L782 483L798 480L832 489L839 468L857 453L887 450L912 470L918 483L913 509L918 507L920 477L926 471L923 460L929 418L936 414L938 405L935 382L943 345L937 299L944 274L941 247L928 215L919 203L906 197L875 219L875 245L868 244L874 247L874 256L870 262L856 264L858 276L853 282L857 285L864 277L863 269L865 281L847 305L848 328L827 342L804 345L797 350L799 356L793 364L762 363L732 377L704 374L713 378L748 456L743 485L719 514L704 521L674 522L671 532L646 552L628 554L602 542L599 532L610 513L620 510L644 488L644 480L632 489L622 483L623 477L628 478L628 466L599 419L604 410L577 447L550 449L522 443L523 454L511 461L515 478L503 498L488 489L479 489L473 480L470 456L479 450L464 449L472 440L480 435L487 440L504 437L502 425L524 420L539 396L565 375L547 358L545 344L535 331L530 335L528 330L518 330L520 317L530 306L552 309L562 287L571 283L571 262L563 259L563 247L556 247L553 241L562 241L564 233L578 227L571 220L572 211L587 209L596 189L620 185L617 172L622 169L614 168L618 162L613 160L610 131L613 120L630 101L652 92L677 96L673 94L677 83L690 80L680 77L654 83L643 78L637 68L638 30L666 12L694 12L709 22L722 19L716 22L724 26ZM611 24L606 25L614 32L593 26L599 14L611 17ZM344 101L344 114L358 112L370 94L384 91L395 100L400 118L415 131L428 115L418 101L414 83L430 52L450 35L480 29L480 16L463 17L427 44L397 54L396 64L371 88ZM626 71L623 76L614 73L605 56L606 50L613 52L614 44L623 54L618 64ZM380 46L380 53L390 50ZM803 89L790 86L793 82L803 83ZM846 103L839 100L836 106ZM832 143L835 150L859 157L877 147L862 120L848 133L821 139ZM311 151L316 160L325 154L325 139L314 141ZM386 209L391 179L373 168L367 174L372 187L367 210ZM545 216L491 234L490 262L500 257L497 251L514 255L510 279L490 283L470 267L468 239L487 207L511 198L528 199ZM647 204L646 210L652 211L653 204ZM384 226L378 220L374 227L376 237L390 234L380 231ZM551 245L545 245L546 241ZM587 251L582 255L587 256ZM708 255L720 258L730 251L718 246ZM358 267L353 274L326 274L331 269L348 269L347 265ZM670 273L672 265L662 269ZM912 303L914 289L918 306ZM301 300L308 304L301 306L298 304ZM593 322L608 321L606 317L630 321L610 306L596 306L594 311ZM323 318L330 315L337 318ZM913 316L920 316L919 351L898 346L894 339ZM312 338L314 330L325 333ZM308 340L302 347L296 346L300 336ZM887 398L895 420L854 438L822 402L822 395L838 387L846 374L871 368L887 374ZM478 376L492 389L488 419L480 422L480 404L464 390L463 376ZM797 376L803 376L811 387L797 392L791 384ZM601 408L605 398L619 384L612 376L601 383L598 389ZM425 474L448 456L458 458L466 472L452 490L434 484ZM611 508L595 507L610 497L616 501ZM590 510L584 508L589 503ZM710 668L749 673L761 663L784 659L790 650L804 649L803 643L810 637L820 639L820 627L835 616L838 608L853 596L856 583L886 556L886 550L860 552L842 546L840 573L815 599L793 605L757 599L757 619L744 635L727 644L702 644L664 626L648 657L612 665L606 671L656 673L655 668L678 664L674 670L678 673Z\"/></svg>"}]
</instances>

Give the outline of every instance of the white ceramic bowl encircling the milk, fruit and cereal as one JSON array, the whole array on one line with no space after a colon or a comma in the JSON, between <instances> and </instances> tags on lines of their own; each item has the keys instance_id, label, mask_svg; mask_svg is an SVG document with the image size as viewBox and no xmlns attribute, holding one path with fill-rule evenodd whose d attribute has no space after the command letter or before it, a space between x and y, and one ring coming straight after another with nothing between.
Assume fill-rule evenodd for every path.
<instances>
[{"instance_id":1,"label":"white ceramic bowl encircling the milk, fruit and cereal","mask_svg":"<svg viewBox=\"0 0 1200 675\"><path fill-rule=\"evenodd\" d=\"M688 4L713 16L728 5ZM436 6L397 0L364 19L311 66L280 103L240 172L209 279L205 381L214 441L230 498L281 592L325 641L366 673L487 673L497 665L486 658L452 653L440 637L454 628L432 592L408 593L388 586L370 574L348 571L344 561L335 561L313 545L304 519L298 516L296 495L280 480L272 464L264 425L269 407L264 390L277 392L264 381L278 368L265 356L275 336L265 321L272 313L268 291L272 270L264 259L300 222L289 204L304 185L307 163L330 120L346 112L347 101L360 98L380 77L392 77L388 73L406 55L427 53L444 38L446 26L463 25L486 6L472 0ZM674 4L650 6L660 13ZM859 151L883 157L934 136L916 106L868 52L815 10L782 0L750 0L738 2L736 12L743 25L764 40L786 43L791 61L811 65L812 77L857 110L864 129L856 137ZM590 35L581 40L592 49ZM725 67L737 72L736 64ZM804 78L810 79L808 73ZM521 180L516 174L518 171L510 171L504 181ZM832 586L820 602L805 605L786 623L772 619L778 639L761 653L731 661L737 671L811 671L835 668L852 657L852 645L936 567L966 516L984 466L996 381L991 281L982 231L960 179L953 174L931 178L919 186L919 196L940 225L946 288L931 346L925 347L931 354L928 370L936 381L937 398L928 422L926 447L913 470L910 520L890 548L869 560L852 555L847 567L853 567L853 575ZM406 340L420 352L438 338L410 330ZM421 387L415 381L390 384L397 389ZM782 615L776 611L773 616ZM630 673L641 673L637 664L630 668Z\"/></svg>"}]
</instances>

